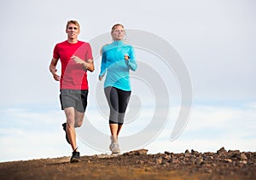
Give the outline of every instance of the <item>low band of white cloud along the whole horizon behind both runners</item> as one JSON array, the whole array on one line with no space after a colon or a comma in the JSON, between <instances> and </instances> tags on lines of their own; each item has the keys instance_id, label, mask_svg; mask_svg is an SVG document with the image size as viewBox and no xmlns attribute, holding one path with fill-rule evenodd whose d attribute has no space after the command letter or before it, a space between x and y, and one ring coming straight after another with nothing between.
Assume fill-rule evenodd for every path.
<instances>
[{"instance_id":1,"label":"low band of white cloud along the whole horizon behind both runners","mask_svg":"<svg viewBox=\"0 0 256 180\"><path fill-rule=\"evenodd\" d=\"M206 152L217 151L221 147L255 151L256 127L254 122L256 109L254 104L255 102L244 104L243 107L246 108L195 106L185 130L181 136L171 142L171 131L179 109L175 107L176 112L172 111L170 120L163 127L160 135L144 148L148 148L149 153L164 151L177 153L192 148ZM3 112L3 117L5 117L3 121L11 118L12 123L10 125L4 124L0 130L0 143L3 147L0 149L1 161L70 155L71 148L66 142L61 127L64 113L60 110L35 113L32 110L6 109ZM137 120L140 118L138 117ZM96 109L88 109L84 126L88 125L88 120L95 126L96 130L107 136L110 135L108 120L103 119ZM131 125L124 125L120 136L131 136L138 131L143 131L141 126L143 122L137 120ZM148 136L147 134L144 135ZM83 138L83 136L79 138ZM109 153L108 150L99 152L88 147L83 143L83 139L79 139L78 144L82 154Z\"/></svg>"}]
</instances>

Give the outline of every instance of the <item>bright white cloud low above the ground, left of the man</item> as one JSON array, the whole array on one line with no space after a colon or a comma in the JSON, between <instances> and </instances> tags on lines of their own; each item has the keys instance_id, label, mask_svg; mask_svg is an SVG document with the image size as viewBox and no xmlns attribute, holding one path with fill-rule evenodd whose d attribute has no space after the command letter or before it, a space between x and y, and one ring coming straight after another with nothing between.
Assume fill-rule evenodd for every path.
<instances>
[{"instance_id":1,"label":"bright white cloud low above the ground, left of the man","mask_svg":"<svg viewBox=\"0 0 256 180\"><path fill-rule=\"evenodd\" d=\"M62 130L65 115L61 110L36 113L32 109L12 108L2 113L0 161L70 156L72 149ZM94 149L81 145L81 152L96 154Z\"/></svg>"}]
</instances>

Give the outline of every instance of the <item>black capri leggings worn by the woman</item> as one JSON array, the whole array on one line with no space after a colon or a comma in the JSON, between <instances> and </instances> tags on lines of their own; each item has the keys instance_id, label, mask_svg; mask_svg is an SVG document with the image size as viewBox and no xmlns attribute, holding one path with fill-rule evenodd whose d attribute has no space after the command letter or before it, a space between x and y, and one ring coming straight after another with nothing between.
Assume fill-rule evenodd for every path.
<instances>
[{"instance_id":1,"label":"black capri leggings worn by the woman","mask_svg":"<svg viewBox=\"0 0 256 180\"><path fill-rule=\"evenodd\" d=\"M104 92L110 108L109 124L123 125L126 107L131 96L131 90L125 91L115 87L106 87Z\"/></svg>"}]
</instances>

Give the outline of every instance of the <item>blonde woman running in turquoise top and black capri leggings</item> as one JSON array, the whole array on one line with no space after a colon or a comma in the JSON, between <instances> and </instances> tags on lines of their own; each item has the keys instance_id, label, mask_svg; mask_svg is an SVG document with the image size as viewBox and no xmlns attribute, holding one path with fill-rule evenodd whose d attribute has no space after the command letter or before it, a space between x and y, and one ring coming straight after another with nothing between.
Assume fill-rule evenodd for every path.
<instances>
[{"instance_id":1,"label":"blonde woman running in turquoise top and black capri leggings","mask_svg":"<svg viewBox=\"0 0 256 180\"><path fill-rule=\"evenodd\" d=\"M137 70L134 49L125 44L125 29L121 24L112 27L112 44L102 47L102 64L99 80L104 75L104 93L110 109L109 128L111 131L111 144L109 149L113 154L119 154L119 132L124 124L125 111L131 96L130 70Z\"/></svg>"}]
</instances>

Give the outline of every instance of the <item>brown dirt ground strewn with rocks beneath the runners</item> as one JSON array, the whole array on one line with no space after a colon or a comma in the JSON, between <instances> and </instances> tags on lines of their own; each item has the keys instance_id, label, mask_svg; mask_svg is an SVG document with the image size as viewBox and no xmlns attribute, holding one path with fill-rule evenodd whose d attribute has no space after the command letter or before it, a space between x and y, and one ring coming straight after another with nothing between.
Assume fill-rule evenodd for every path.
<instances>
[{"instance_id":1,"label":"brown dirt ground strewn with rocks beneath the runners","mask_svg":"<svg viewBox=\"0 0 256 180\"><path fill-rule=\"evenodd\" d=\"M226 151L82 156L0 163L0 179L256 179L256 153Z\"/></svg>"}]
</instances>

